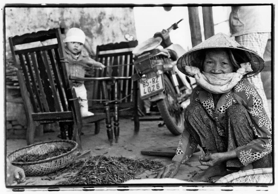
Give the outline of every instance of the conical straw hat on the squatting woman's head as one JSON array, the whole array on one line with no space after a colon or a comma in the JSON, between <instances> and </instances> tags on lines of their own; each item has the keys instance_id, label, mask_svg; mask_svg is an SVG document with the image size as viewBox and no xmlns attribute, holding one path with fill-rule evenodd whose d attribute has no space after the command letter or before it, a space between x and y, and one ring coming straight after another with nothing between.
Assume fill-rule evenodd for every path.
<instances>
[{"instance_id":1,"label":"conical straw hat on the squatting woman's head","mask_svg":"<svg viewBox=\"0 0 278 194\"><path fill-rule=\"evenodd\" d=\"M202 59L200 59L199 56L204 52L204 49L209 48L228 48L231 50L236 50L238 51L238 53L247 56L249 61L245 62L251 63L253 71L245 74L243 77L252 77L260 73L264 68L264 60L255 51L240 45L238 42L231 39L228 35L224 33L218 33L216 35L213 35L212 37L208 38L207 40L201 42L200 44L194 46L192 49L187 51L178 59L177 68L185 75L188 75L185 71L185 65L192 65L198 67L199 69L202 69Z\"/></svg>"}]
</instances>

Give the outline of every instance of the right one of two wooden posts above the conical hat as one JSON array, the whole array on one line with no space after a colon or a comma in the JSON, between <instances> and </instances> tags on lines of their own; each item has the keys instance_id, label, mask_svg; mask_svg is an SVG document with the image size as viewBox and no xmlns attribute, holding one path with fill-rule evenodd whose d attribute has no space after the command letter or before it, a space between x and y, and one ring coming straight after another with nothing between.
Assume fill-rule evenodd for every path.
<instances>
[{"instance_id":1,"label":"right one of two wooden posts above the conical hat","mask_svg":"<svg viewBox=\"0 0 278 194\"><path fill-rule=\"evenodd\" d=\"M212 7L202 7L205 40L214 35Z\"/></svg>"}]
</instances>

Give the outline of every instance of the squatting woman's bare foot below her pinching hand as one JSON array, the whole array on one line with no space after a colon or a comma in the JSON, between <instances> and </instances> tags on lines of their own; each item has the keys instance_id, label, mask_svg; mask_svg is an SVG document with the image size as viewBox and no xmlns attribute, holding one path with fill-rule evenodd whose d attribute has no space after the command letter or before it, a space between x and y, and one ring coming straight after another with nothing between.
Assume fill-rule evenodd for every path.
<instances>
[{"instance_id":1,"label":"squatting woman's bare foot below her pinching hand","mask_svg":"<svg viewBox=\"0 0 278 194\"><path fill-rule=\"evenodd\" d=\"M227 174L227 169L225 164L221 163L214 167L208 167L203 172L196 174L194 177L192 177L193 182L199 182L199 181L205 181L209 177L214 176L225 176Z\"/></svg>"}]
</instances>

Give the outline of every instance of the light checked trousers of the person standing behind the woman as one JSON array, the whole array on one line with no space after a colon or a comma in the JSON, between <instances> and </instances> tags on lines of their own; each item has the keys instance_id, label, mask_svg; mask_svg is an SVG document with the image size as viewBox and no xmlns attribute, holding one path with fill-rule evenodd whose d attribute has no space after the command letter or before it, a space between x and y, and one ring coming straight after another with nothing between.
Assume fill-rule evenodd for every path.
<instances>
[{"instance_id":1,"label":"light checked trousers of the person standing behind the woman","mask_svg":"<svg viewBox=\"0 0 278 194\"><path fill-rule=\"evenodd\" d=\"M235 40L239 44L241 44L251 50L254 50L263 58L263 53L264 53L266 45L267 45L268 34L269 33L249 33L249 34L236 36ZM270 118L267 97L266 97L265 91L263 89L261 74L259 73L256 76L253 76L251 78L245 78L245 79L247 79L249 81L249 83L251 83L254 86L254 88L257 90L257 92L261 96L264 108L267 112L267 115Z\"/></svg>"}]
</instances>

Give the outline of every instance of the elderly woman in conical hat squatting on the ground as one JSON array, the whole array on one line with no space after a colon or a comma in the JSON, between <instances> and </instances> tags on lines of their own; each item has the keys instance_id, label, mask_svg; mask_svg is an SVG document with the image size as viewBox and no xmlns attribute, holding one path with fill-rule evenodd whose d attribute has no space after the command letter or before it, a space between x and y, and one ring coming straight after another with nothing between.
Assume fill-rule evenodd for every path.
<instances>
[{"instance_id":1,"label":"elderly woman in conical hat squatting on the ground","mask_svg":"<svg viewBox=\"0 0 278 194\"><path fill-rule=\"evenodd\" d=\"M263 59L219 33L180 57L177 67L198 86L185 110L185 130L172 163L157 177L174 177L198 144L206 153L199 161L209 167L194 181L224 176L227 169L270 167L271 120L257 91L242 79L261 72Z\"/></svg>"}]
</instances>

